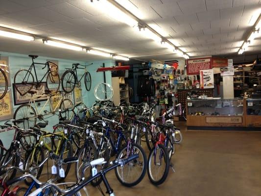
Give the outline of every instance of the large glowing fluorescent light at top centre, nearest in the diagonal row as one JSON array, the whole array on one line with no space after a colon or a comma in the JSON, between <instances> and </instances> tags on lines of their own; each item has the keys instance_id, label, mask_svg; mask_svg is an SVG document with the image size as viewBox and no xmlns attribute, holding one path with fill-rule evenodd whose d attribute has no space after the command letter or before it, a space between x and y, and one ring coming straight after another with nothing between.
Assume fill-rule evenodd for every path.
<instances>
[{"instance_id":1,"label":"large glowing fluorescent light at top centre, nearest in the diagonal row","mask_svg":"<svg viewBox=\"0 0 261 196\"><path fill-rule=\"evenodd\" d=\"M132 27L138 25L138 21L131 17L130 14L124 12L108 0L93 0L93 2L91 3L97 6L99 10L102 10L103 13L107 14L109 17L116 21L125 23Z\"/></svg>"}]
</instances>

